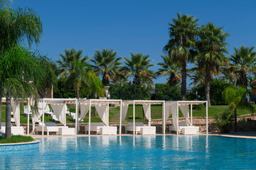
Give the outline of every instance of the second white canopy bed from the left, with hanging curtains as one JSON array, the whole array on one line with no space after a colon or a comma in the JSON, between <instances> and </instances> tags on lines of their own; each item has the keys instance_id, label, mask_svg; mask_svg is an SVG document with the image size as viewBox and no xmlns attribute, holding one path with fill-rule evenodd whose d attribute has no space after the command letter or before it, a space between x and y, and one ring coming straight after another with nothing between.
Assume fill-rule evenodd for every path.
<instances>
[{"instance_id":1,"label":"second white canopy bed from the left, with hanging curtains","mask_svg":"<svg viewBox=\"0 0 256 170\"><path fill-rule=\"evenodd\" d=\"M122 100L112 100L112 99L80 99L78 100L80 106L80 120L85 118L85 115L89 111L89 123L85 127L85 133L96 132L101 135L117 135L117 127L109 125L110 116L110 104L119 104L122 106ZM95 109L102 120L102 123L91 123L91 106L95 106ZM120 107L120 116L122 115L122 107ZM76 119L78 120L78 118ZM80 121L78 121L78 128ZM121 134L122 127L119 128L119 133Z\"/></svg>"}]
</instances>

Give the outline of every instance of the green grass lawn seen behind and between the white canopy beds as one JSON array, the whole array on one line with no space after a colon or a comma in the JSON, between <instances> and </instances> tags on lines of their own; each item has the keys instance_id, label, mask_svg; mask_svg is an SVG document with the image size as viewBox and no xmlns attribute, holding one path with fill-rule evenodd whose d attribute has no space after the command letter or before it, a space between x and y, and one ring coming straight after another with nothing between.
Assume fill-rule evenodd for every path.
<instances>
[{"instance_id":1,"label":"green grass lawn seen behind and between the white canopy beds","mask_svg":"<svg viewBox=\"0 0 256 170\"><path fill-rule=\"evenodd\" d=\"M256 104L253 105L256 109ZM70 108L70 112L75 112L75 106L68 106ZM211 108L208 108L208 116L209 117L214 117L215 115L222 113L225 111L225 109L228 108L228 106L212 106ZM2 114L1 114L1 122L5 122L5 106L2 106L1 108ZM102 122L100 120L99 115L94 114L95 108L92 107L91 111L91 122ZM112 115L113 111L119 111L119 107L117 108L110 108L110 122L112 121ZM238 115L245 115L249 114L250 111L241 111L238 110ZM144 122L144 118L142 115L142 106L137 105L135 108L135 115L136 115L136 121L137 122ZM201 108L201 110L196 110L193 109L193 116L194 117L206 117L206 107ZM179 117L183 117L181 114L181 111L179 111ZM151 106L151 118L152 119L161 119L162 118L162 107L161 106ZM71 120L71 116L67 116L67 123L73 123ZM84 122L87 123L89 120L88 113L84 118ZM125 119L128 122L132 122L132 106L129 106L128 111L127 111L127 118ZM50 116L45 116L45 122L51 122ZM23 115L23 106L21 106L21 123L28 123L28 118ZM31 120L30 120L30 123Z\"/></svg>"}]
</instances>

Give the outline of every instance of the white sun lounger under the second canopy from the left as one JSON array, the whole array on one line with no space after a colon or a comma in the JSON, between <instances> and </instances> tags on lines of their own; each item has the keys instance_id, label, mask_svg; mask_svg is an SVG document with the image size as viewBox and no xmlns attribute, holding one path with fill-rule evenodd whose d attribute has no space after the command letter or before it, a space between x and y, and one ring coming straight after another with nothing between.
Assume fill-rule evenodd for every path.
<instances>
[{"instance_id":1,"label":"white sun lounger under the second canopy from the left","mask_svg":"<svg viewBox=\"0 0 256 170\"><path fill-rule=\"evenodd\" d=\"M89 126L85 126L85 134L89 131ZM90 123L90 132L96 132L97 135L117 135L116 126L105 126L103 123Z\"/></svg>"}]
</instances>

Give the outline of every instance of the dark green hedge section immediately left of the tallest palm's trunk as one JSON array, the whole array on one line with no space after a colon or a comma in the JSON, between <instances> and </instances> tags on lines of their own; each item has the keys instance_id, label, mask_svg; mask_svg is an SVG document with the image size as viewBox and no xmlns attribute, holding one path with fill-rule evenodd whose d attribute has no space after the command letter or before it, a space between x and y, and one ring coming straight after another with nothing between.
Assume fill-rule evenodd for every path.
<instances>
[{"instance_id":1,"label":"dark green hedge section immediately left of the tallest palm's trunk","mask_svg":"<svg viewBox=\"0 0 256 170\"><path fill-rule=\"evenodd\" d=\"M178 101L181 98L179 86L169 86L169 84L156 84L156 100L159 101Z\"/></svg>"}]
</instances>

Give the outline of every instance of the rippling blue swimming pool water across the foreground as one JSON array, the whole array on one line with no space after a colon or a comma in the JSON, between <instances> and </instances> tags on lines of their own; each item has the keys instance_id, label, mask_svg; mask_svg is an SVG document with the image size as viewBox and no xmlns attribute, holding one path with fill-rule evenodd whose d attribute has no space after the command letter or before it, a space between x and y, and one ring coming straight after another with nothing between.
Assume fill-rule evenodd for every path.
<instances>
[{"instance_id":1,"label":"rippling blue swimming pool water across the foreground","mask_svg":"<svg viewBox=\"0 0 256 170\"><path fill-rule=\"evenodd\" d=\"M256 169L256 140L215 136L41 139L0 153L0 169Z\"/></svg>"}]
</instances>

